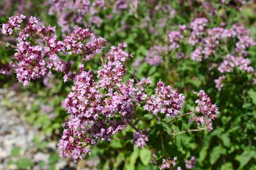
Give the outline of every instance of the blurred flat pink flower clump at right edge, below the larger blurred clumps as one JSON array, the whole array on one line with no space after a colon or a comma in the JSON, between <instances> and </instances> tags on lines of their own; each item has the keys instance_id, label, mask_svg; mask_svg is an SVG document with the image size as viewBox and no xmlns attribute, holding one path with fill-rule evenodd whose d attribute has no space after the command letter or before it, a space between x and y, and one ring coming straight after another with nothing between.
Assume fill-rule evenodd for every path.
<instances>
[{"instance_id":1,"label":"blurred flat pink flower clump at right edge, below the larger blurred clumps","mask_svg":"<svg viewBox=\"0 0 256 170\"><path fill-rule=\"evenodd\" d=\"M219 65L219 72L232 72L234 68L245 70L247 72L254 72L254 68L250 66L251 62L249 59L243 57L236 57L228 54L226 59Z\"/></svg>"}]
</instances>

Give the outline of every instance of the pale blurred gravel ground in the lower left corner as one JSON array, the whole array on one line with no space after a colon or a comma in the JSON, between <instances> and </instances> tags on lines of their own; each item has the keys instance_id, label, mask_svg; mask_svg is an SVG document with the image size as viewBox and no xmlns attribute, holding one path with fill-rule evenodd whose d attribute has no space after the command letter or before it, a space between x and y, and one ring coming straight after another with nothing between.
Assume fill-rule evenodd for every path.
<instances>
[{"instance_id":1,"label":"pale blurred gravel ground in the lower left corner","mask_svg":"<svg viewBox=\"0 0 256 170\"><path fill-rule=\"evenodd\" d=\"M29 109L33 97L26 93L16 93L7 89L0 89L0 170L17 170L15 164L8 165L10 160L27 158L33 162L47 162L50 153L38 151L33 142L35 136L43 141L46 136L33 128L25 120L25 116L16 109L18 103L25 103L25 109ZM49 150L57 151L56 142L49 142ZM13 157L11 151L14 147L20 147L18 157ZM69 163L66 159L60 159L56 164L56 170L74 170L75 164ZM34 168L33 168L34 169Z\"/></svg>"}]
</instances>

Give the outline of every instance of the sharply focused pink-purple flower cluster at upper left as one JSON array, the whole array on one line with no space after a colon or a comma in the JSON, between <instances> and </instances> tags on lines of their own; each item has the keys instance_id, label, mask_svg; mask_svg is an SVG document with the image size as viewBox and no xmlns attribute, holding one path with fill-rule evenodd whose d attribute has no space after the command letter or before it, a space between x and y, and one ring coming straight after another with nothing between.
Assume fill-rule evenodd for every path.
<instances>
[{"instance_id":1,"label":"sharply focused pink-purple flower cluster at upper left","mask_svg":"<svg viewBox=\"0 0 256 170\"><path fill-rule=\"evenodd\" d=\"M19 29L22 18L25 16L18 15L10 17L7 22L8 29ZM78 54L85 56L85 58L92 58L96 53L101 53L106 41L103 38L92 38L93 34L89 29L77 29L65 37L64 41L57 40L55 34L55 27L39 27L39 21L36 17L30 17L24 29L21 29L18 34L17 52L15 59L17 67L17 79L23 85L28 85L31 80L43 77L51 69L64 73L64 81L68 78L73 79L74 74L71 66L73 61L66 62L58 57L58 53L62 52L64 55L67 53ZM2 33L4 28L3 24ZM87 42L90 40L91 42ZM37 42L44 41L46 47L43 47ZM36 44L32 46L31 44ZM6 67L5 67L6 69ZM5 71L1 71L4 73Z\"/></svg>"}]
</instances>

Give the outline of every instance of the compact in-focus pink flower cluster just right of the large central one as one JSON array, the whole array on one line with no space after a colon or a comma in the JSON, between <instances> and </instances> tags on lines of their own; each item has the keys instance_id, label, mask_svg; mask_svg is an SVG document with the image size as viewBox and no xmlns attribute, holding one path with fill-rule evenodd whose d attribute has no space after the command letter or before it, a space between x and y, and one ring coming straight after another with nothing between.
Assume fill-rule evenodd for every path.
<instances>
[{"instance_id":1,"label":"compact in-focus pink flower cluster just right of the large central one","mask_svg":"<svg viewBox=\"0 0 256 170\"><path fill-rule=\"evenodd\" d=\"M152 111L154 115L164 113L166 117L176 117L183 107L185 97L171 86L165 86L159 81L155 88L155 94L151 95L144 106L147 111Z\"/></svg>"}]
</instances>

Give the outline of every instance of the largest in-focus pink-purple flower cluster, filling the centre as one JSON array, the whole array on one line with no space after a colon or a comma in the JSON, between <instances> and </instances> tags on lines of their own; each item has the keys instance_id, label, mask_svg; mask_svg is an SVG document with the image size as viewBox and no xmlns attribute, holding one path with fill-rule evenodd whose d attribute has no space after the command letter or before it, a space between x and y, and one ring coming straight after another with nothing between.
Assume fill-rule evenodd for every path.
<instances>
[{"instance_id":1,"label":"largest in-focus pink-purple flower cluster, filling the centre","mask_svg":"<svg viewBox=\"0 0 256 170\"><path fill-rule=\"evenodd\" d=\"M133 102L137 99L138 89L134 87L134 80L121 83L126 70L120 59L123 58L124 60L122 60L125 61L130 55L127 55L126 52L115 53L114 49L118 48L113 47L113 51L106 54L106 59L109 62L97 71L98 82L94 80L91 70L85 71L84 65L79 66L79 71L73 78L73 92L70 92L68 98L65 99L65 108L71 114L69 129L74 129L75 132L76 130L86 132L87 135L83 136L84 140L88 137L91 140L90 143L87 142L84 145L88 145L89 148L93 143L110 140L111 136L125 130L126 123L133 113ZM111 55L115 57L110 58ZM113 64L111 61L120 63ZM146 83L142 82L141 86L143 84ZM116 114L120 115L122 119L115 117ZM140 140L138 139L138 141ZM146 141L146 138L144 140ZM62 154L72 157L69 154L71 151L67 147L63 147L62 142L60 141L59 144ZM139 143L141 147L144 145L142 142L138 142L138 145ZM76 148L71 148L71 150L76 151ZM85 153L87 152L81 152L82 155ZM75 160L77 157L73 157L73 159Z\"/></svg>"}]
</instances>

